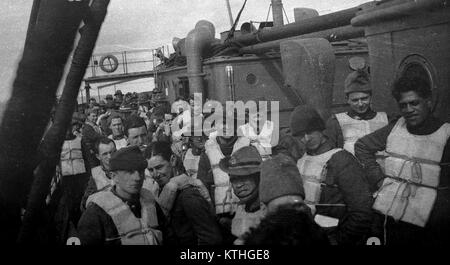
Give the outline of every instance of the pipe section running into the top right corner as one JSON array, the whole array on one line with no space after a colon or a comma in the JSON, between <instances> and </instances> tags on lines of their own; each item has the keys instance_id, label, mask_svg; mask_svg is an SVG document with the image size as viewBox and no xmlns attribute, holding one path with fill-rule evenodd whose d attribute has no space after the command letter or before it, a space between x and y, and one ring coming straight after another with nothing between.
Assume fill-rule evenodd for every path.
<instances>
[{"instance_id":1,"label":"pipe section running into the top right corner","mask_svg":"<svg viewBox=\"0 0 450 265\"><path fill-rule=\"evenodd\" d=\"M414 12L423 12L424 9L444 8L450 4L449 0L414 0L411 2L388 6L381 9L368 10L351 20L353 26L367 26L377 21L385 21L411 15Z\"/></svg>"}]
</instances>

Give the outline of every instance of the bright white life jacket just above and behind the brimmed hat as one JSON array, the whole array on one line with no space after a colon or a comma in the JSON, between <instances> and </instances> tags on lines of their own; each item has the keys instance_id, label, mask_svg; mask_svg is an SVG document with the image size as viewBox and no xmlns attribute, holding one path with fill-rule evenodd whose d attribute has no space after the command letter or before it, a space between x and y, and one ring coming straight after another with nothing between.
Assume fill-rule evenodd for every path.
<instances>
[{"instance_id":1,"label":"bright white life jacket just above and behind the brimmed hat","mask_svg":"<svg viewBox=\"0 0 450 265\"><path fill-rule=\"evenodd\" d=\"M255 129L249 123L240 126L239 129L245 137L250 139L250 144L258 149L262 160L270 158L272 155L271 141L274 129L274 124L272 121L266 121L259 134L256 134ZM276 144L277 143L274 145Z\"/></svg>"}]
</instances>

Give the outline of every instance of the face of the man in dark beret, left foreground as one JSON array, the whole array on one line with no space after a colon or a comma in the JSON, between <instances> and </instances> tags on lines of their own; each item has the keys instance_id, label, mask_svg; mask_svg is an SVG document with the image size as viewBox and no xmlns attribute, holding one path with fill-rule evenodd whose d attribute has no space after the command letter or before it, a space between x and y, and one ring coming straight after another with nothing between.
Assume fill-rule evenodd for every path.
<instances>
[{"instance_id":1,"label":"face of the man in dark beret, left foreground","mask_svg":"<svg viewBox=\"0 0 450 265\"><path fill-rule=\"evenodd\" d=\"M139 194L144 182L144 170L117 170L113 172L113 180L119 194Z\"/></svg>"}]
</instances>

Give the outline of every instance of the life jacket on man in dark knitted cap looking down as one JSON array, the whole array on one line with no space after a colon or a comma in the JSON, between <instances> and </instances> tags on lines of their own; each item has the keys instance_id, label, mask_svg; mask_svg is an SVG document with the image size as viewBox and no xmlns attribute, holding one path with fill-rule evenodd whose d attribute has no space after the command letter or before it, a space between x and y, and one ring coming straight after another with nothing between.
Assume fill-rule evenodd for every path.
<instances>
[{"instance_id":1,"label":"life jacket on man in dark knitted cap looking down","mask_svg":"<svg viewBox=\"0 0 450 265\"><path fill-rule=\"evenodd\" d=\"M325 179L327 177L327 163L331 157L337 152L342 151L341 148L335 148L320 155L310 156L307 153L297 161L297 168L303 180L303 188L305 190L305 203L315 214L316 206L320 204L320 195L322 186L327 185ZM340 204L327 206L343 206ZM319 218L320 217L320 218ZM329 227L329 223L337 225L338 220L333 217L322 218L322 216L315 217L317 224L322 227ZM323 221L323 222L322 222Z\"/></svg>"}]
</instances>

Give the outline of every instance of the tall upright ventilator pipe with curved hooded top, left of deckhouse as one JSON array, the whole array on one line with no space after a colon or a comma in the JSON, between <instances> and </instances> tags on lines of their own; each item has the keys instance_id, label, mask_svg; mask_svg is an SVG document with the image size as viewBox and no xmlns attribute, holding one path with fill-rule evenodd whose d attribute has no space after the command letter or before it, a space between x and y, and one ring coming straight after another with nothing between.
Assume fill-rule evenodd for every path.
<instances>
[{"instance_id":1,"label":"tall upright ventilator pipe with curved hooded top, left of deckhouse","mask_svg":"<svg viewBox=\"0 0 450 265\"><path fill-rule=\"evenodd\" d=\"M204 51L214 40L214 25L206 20L200 20L186 37L186 61L189 90L191 93L203 93L203 65Z\"/></svg>"}]
</instances>

